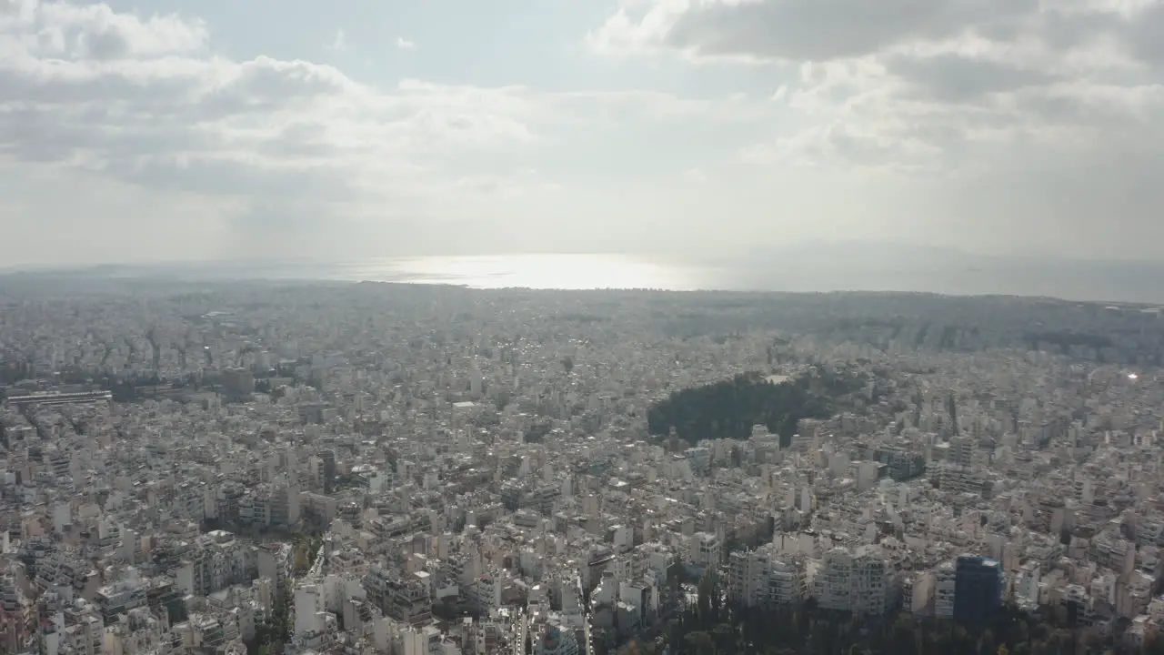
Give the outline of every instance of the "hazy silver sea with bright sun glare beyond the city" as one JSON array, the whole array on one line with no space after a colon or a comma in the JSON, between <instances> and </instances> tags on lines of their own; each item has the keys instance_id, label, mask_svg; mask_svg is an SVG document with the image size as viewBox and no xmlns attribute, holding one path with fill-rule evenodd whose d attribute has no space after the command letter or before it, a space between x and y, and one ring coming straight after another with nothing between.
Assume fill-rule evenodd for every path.
<instances>
[{"instance_id":1,"label":"hazy silver sea with bright sun glare beyond the city","mask_svg":"<svg viewBox=\"0 0 1164 655\"><path fill-rule=\"evenodd\" d=\"M868 248L858 254L823 249L717 261L569 253L118 265L87 268L84 273L184 280L377 281L476 289L904 291L1164 304L1164 263L909 254Z\"/></svg>"}]
</instances>

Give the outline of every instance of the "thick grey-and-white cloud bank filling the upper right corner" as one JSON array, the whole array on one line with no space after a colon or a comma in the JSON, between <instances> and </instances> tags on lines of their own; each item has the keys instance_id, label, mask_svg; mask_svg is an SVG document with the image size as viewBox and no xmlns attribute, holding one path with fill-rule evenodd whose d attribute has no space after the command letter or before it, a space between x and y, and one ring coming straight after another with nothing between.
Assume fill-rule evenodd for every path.
<instances>
[{"instance_id":1,"label":"thick grey-and-white cloud bank filling the upper right corner","mask_svg":"<svg viewBox=\"0 0 1164 655\"><path fill-rule=\"evenodd\" d=\"M1155 0L650 0L587 42L787 78L773 100L802 128L753 162L949 174L1162 145Z\"/></svg>"}]
</instances>

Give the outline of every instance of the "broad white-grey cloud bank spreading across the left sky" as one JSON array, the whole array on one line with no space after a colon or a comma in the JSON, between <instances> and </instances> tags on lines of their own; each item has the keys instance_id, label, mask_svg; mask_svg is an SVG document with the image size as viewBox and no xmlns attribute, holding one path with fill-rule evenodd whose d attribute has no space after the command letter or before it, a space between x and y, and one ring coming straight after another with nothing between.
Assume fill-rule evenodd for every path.
<instances>
[{"instance_id":1,"label":"broad white-grey cloud bank spreading across the left sky","mask_svg":"<svg viewBox=\"0 0 1164 655\"><path fill-rule=\"evenodd\" d=\"M333 45L345 43L338 31ZM148 192L149 203L197 197L217 212L206 220L222 225L206 238L220 235L229 252L324 242L340 252L405 234L419 242L454 218L489 221L499 227L482 231L504 239L560 192L552 174L527 170L561 129L711 111L662 93L372 86L303 59L226 57L192 16L0 0L0 176L35 165L107 179L122 196ZM68 235L73 218L44 206ZM27 220L13 207L3 220ZM111 228L120 220L108 219ZM256 241L265 246L251 249ZM180 244L171 248L180 256Z\"/></svg>"}]
</instances>

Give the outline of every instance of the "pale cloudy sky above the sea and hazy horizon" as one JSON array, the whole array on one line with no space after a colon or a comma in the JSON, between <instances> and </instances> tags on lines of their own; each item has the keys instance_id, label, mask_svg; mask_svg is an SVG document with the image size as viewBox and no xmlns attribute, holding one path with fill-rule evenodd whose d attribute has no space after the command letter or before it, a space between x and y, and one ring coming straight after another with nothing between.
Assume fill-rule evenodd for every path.
<instances>
[{"instance_id":1,"label":"pale cloudy sky above the sea and hazy horizon","mask_svg":"<svg viewBox=\"0 0 1164 655\"><path fill-rule=\"evenodd\" d=\"M1164 261L1164 0L0 0L0 263Z\"/></svg>"}]
</instances>

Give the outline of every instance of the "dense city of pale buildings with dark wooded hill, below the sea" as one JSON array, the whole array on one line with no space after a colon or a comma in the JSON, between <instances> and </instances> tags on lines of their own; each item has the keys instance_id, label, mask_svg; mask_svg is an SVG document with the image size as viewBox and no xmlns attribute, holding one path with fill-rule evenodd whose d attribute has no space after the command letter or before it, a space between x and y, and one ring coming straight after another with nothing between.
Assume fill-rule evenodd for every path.
<instances>
[{"instance_id":1,"label":"dense city of pale buildings with dark wooded hill, below the sea","mask_svg":"<svg viewBox=\"0 0 1164 655\"><path fill-rule=\"evenodd\" d=\"M0 653L1140 653L1164 311L0 283Z\"/></svg>"}]
</instances>

